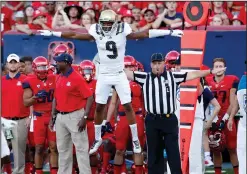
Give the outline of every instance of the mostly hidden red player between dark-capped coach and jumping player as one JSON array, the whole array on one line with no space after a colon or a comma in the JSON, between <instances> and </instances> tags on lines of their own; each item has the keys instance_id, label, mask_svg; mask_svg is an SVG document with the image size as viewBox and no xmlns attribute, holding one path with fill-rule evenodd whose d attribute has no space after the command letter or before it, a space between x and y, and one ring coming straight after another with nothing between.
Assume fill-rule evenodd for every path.
<instances>
[{"instance_id":1,"label":"mostly hidden red player between dark-capped coach and jumping player","mask_svg":"<svg viewBox=\"0 0 247 174\"><path fill-rule=\"evenodd\" d=\"M81 68L81 74L86 80L87 84L89 85L90 90L94 93L95 95L95 88L96 88L96 80L94 79L95 76L95 65L92 61L90 60L83 60L80 63L80 68ZM95 97L94 97L95 98ZM95 113L95 108L96 108L96 103L95 101L93 102L91 106L91 110L88 114L87 117L87 134L88 134L88 142L89 142L89 147L93 145L93 142L95 140L94 137L94 113ZM91 166L91 171L92 174L96 174L97 172L97 167L99 164L99 160L97 159L97 153L90 155L90 166Z\"/></svg>"}]
</instances>

